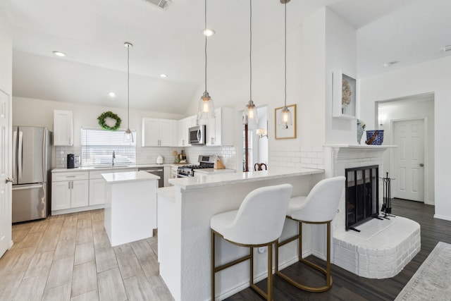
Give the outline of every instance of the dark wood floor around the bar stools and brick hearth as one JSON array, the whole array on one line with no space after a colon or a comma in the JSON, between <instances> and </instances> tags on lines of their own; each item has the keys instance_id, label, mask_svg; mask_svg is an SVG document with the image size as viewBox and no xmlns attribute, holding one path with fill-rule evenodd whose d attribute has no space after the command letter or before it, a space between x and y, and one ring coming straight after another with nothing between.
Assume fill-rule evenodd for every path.
<instances>
[{"instance_id":1,"label":"dark wood floor around the bar stools and brick hearth","mask_svg":"<svg viewBox=\"0 0 451 301\"><path fill-rule=\"evenodd\" d=\"M407 266L393 278L369 279L359 277L332 265L333 287L324 293L309 293L298 290L278 276L274 277L274 300L394 300L404 285L414 275L415 271L431 253L437 242L451 243L451 221L434 219L434 207L420 202L404 199L393 199L392 213L405 216L421 225L421 250ZM310 256L313 262L323 264L323 261ZM284 270L286 274L303 281L315 281L319 275L314 271L305 269L302 264L293 264ZM258 283L261 288L266 287L266 279ZM264 289L266 291L266 288ZM254 290L247 288L228 299L235 300L262 300Z\"/></svg>"}]
</instances>

